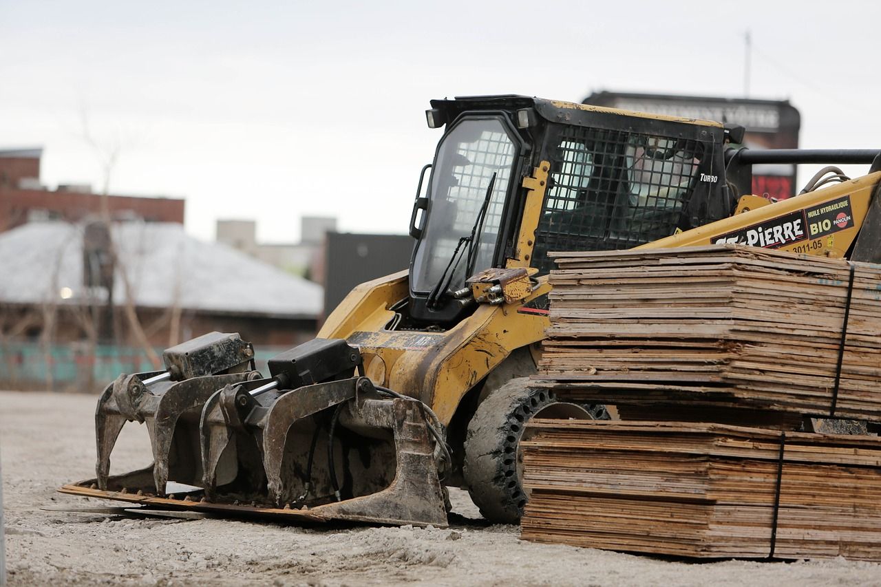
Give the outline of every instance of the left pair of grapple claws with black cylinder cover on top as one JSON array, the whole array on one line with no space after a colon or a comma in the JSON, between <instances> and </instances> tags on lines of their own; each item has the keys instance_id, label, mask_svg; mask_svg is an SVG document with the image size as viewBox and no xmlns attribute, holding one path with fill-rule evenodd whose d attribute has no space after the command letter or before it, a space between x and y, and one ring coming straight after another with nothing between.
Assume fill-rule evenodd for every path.
<instances>
[{"instance_id":1,"label":"left pair of grapple claws with black cylinder cover on top","mask_svg":"<svg viewBox=\"0 0 881 587\"><path fill-rule=\"evenodd\" d=\"M101 393L95 410L100 489L108 487L110 453L127 421L147 425L157 493L165 492L169 475L201 483L198 426L205 400L226 384L259 376L254 349L238 334L211 332L167 349L163 358L166 371L120 375Z\"/></svg>"}]
</instances>

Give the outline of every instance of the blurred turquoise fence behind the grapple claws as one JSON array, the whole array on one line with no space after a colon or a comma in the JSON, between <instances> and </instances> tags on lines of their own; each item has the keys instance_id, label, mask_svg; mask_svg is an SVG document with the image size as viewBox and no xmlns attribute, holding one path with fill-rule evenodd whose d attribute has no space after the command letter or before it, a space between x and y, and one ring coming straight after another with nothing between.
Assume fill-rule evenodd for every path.
<instances>
[{"instance_id":1,"label":"blurred turquoise fence behind the grapple claws","mask_svg":"<svg viewBox=\"0 0 881 587\"><path fill-rule=\"evenodd\" d=\"M163 349L154 350L162 356ZM266 376L266 361L284 350L285 347L256 347L257 370ZM97 392L121 373L152 370L152 363L140 347L0 343L0 389L5 390Z\"/></svg>"}]
</instances>

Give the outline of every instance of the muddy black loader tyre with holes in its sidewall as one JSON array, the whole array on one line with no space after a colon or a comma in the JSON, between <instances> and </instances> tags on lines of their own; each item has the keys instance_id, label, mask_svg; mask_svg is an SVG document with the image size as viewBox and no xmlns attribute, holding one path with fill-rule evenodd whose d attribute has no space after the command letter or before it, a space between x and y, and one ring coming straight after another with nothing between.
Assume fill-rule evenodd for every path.
<instances>
[{"instance_id":1,"label":"muddy black loader tyre with holes in its sidewall","mask_svg":"<svg viewBox=\"0 0 881 587\"><path fill-rule=\"evenodd\" d=\"M551 391L530 383L525 377L512 379L492 391L468 425L463 476L471 500L494 524L516 524L529 500L522 487L519 444L531 418L608 419L603 406L586 409L559 402Z\"/></svg>"}]
</instances>

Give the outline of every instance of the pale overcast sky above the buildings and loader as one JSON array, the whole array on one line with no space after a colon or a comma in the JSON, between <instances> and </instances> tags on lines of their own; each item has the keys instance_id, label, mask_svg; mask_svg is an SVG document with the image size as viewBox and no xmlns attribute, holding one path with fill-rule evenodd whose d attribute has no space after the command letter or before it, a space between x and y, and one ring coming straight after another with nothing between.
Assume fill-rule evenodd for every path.
<instances>
[{"instance_id":1,"label":"pale overcast sky above the buildings and loader","mask_svg":"<svg viewBox=\"0 0 881 587\"><path fill-rule=\"evenodd\" d=\"M0 148L43 146L43 182L98 189L97 151L119 145L112 192L185 197L203 239L241 218L296 241L301 215L403 233L441 136L429 100L738 97L748 29L751 97L791 100L801 146L879 147L879 17L841 1L0 0Z\"/></svg>"}]
</instances>

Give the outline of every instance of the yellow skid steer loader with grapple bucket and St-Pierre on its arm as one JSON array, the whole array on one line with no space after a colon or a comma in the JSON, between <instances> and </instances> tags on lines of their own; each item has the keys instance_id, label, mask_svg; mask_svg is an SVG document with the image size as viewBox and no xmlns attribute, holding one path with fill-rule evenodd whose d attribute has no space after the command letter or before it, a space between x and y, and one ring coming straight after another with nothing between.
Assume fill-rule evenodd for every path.
<instances>
[{"instance_id":1,"label":"yellow skid steer loader with grapple bucket and St-Pierre on its arm","mask_svg":"<svg viewBox=\"0 0 881 587\"><path fill-rule=\"evenodd\" d=\"M881 260L877 151L736 150L742 128L523 96L433 100L426 117L444 133L419 177L409 271L356 287L266 377L247 343L218 333L168 349L165 373L121 375L96 413L97 478L64 492L443 526L455 486L489 520L515 522L529 419L609 417L529 385L549 252L743 242ZM857 180L829 167L771 203L750 194L751 166L766 162L872 167ZM154 464L108 476L136 420Z\"/></svg>"}]
</instances>

